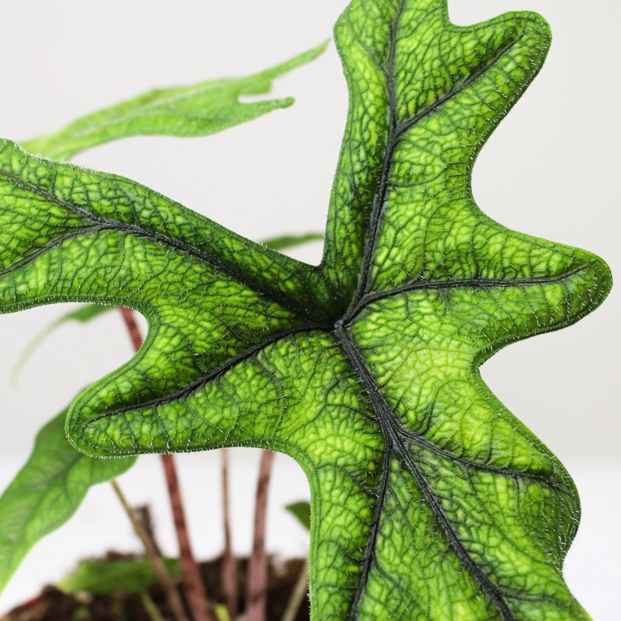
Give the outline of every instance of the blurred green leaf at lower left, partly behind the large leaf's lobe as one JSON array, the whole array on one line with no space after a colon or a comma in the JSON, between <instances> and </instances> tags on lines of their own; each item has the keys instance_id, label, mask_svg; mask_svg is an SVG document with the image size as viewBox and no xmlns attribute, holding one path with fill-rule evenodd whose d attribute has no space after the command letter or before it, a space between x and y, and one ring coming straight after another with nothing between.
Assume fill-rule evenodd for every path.
<instances>
[{"instance_id":1,"label":"blurred green leaf at lower left, partly behind the large leaf's lobe","mask_svg":"<svg viewBox=\"0 0 621 621\"><path fill-rule=\"evenodd\" d=\"M0 496L0 591L32 546L70 519L89 487L119 476L136 460L78 453L65 435L66 412L40 430L29 460Z\"/></svg>"}]
</instances>

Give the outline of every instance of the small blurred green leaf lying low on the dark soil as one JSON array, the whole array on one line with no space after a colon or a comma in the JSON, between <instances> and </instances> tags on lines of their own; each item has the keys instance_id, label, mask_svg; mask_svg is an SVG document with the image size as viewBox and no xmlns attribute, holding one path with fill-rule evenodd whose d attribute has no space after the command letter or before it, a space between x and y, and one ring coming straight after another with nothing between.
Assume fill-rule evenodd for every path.
<instances>
[{"instance_id":1,"label":"small blurred green leaf lying low on the dark soil","mask_svg":"<svg viewBox=\"0 0 621 621\"><path fill-rule=\"evenodd\" d=\"M176 558L163 559L171 576L179 575ZM152 564L143 558L82 561L78 568L58 582L65 593L86 591L93 595L115 592L143 593L157 582Z\"/></svg>"}]
</instances>

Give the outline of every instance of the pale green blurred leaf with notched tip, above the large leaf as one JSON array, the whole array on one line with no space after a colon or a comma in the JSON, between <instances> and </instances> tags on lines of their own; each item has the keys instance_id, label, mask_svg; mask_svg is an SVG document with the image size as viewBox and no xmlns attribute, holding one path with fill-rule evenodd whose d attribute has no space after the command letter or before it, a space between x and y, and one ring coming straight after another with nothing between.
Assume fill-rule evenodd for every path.
<instances>
[{"instance_id":1,"label":"pale green blurred leaf with notched tip, above the large leaf","mask_svg":"<svg viewBox=\"0 0 621 621\"><path fill-rule=\"evenodd\" d=\"M89 147L136 135L206 136L291 106L293 99L242 103L242 95L269 93L271 81L324 52L328 42L245 78L223 78L156 89L76 120L60 132L24 142L31 153L70 160Z\"/></svg>"}]
</instances>

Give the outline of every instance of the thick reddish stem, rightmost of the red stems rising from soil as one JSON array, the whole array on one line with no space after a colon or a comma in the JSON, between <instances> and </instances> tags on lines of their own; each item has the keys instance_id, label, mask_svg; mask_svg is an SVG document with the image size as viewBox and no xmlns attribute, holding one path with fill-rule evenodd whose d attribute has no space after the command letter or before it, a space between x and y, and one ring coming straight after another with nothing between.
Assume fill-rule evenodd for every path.
<instances>
[{"instance_id":1,"label":"thick reddish stem, rightmost of the red stems rising from soil","mask_svg":"<svg viewBox=\"0 0 621 621\"><path fill-rule=\"evenodd\" d=\"M256 484L255 534L248 561L246 621L266 621L268 599L268 556L265 551L265 514L268 504L272 451L261 453L259 481Z\"/></svg>"}]
</instances>

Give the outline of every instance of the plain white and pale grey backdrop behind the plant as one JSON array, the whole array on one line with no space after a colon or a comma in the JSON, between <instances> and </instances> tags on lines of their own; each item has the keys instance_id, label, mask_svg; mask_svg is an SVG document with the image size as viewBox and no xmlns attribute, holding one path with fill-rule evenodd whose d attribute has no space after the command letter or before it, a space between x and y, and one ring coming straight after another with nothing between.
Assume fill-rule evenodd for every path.
<instances>
[{"instance_id":1,"label":"plain white and pale grey backdrop behind the plant","mask_svg":"<svg viewBox=\"0 0 621 621\"><path fill-rule=\"evenodd\" d=\"M314 47L331 33L344 0L219 0L2 3L0 135L31 138L86 112L154 86L246 75ZM552 26L541 75L487 143L474 170L474 194L487 214L514 229L576 245L618 273L619 66L617 0L451 0L453 22L532 9ZM98 147L78 163L120 173L171 196L247 237L320 231L347 112L333 45L281 78L275 96L293 107L212 137L130 138ZM319 261L320 244L295 256ZM598 620L617 619L621 556L619 290L566 330L505 348L482 369L487 383L566 463L581 492L583 517L568 556L569 586ZM29 338L70 305L0 317L0 485L27 457L34 432L86 384L126 361L131 348L119 317L67 326L24 369L7 378ZM234 451L235 547L250 547L258 453ZM199 556L217 553L218 456L179 459ZM132 502L151 501L166 551L174 535L156 457L121 478ZM278 456L270 497L268 546L304 553L305 533L284 514L307 497L299 467ZM84 555L137 549L108 486L89 494L76 517L31 553L0 611L34 594ZM615 572L617 574L615 574Z\"/></svg>"}]
</instances>

